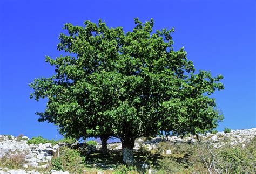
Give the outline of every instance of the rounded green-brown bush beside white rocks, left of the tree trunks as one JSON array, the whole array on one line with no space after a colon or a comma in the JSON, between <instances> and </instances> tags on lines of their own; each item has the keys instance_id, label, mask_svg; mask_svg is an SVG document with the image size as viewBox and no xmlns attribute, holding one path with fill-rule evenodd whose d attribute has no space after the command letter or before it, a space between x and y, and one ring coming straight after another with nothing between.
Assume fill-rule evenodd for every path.
<instances>
[{"instance_id":1,"label":"rounded green-brown bush beside white rocks, left of the tree trunks","mask_svg":"<svg viewBox=\"0 0 256 174\"><path fill-rule=\"evenodd\" d=\"M67 147L60 148L59 157L53 157L51 160L52 169L64 170L69 172L82 172L85 157L80 156L80 153L75 149Z\"/></svg>"}]
</instances>

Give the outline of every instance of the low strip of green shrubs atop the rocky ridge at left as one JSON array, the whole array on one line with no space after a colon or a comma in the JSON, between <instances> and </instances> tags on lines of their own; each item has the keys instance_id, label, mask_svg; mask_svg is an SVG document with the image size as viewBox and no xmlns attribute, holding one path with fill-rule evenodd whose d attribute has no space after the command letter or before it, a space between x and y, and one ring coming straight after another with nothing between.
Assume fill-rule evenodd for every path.
<instances>
[{"instance_id":1,"label":"low strip of green shrubs atop the rocky ridge at left","mask_svg":"<svg viewBox=\"0 0 256 174\"><path fill-rule=\"evenodd\" d=\"M44 143L51 143L51 145L56 145L58 143L73 143L75 142L75 139L73 138L63 138L63 139L60 139L60 140L48 140L48 139L45 139L43 138L42 136L38 136L38 137L32 137L30 140L28 140L26 143L27 144L44 144Z\"/></svg>"}]
</instances>

